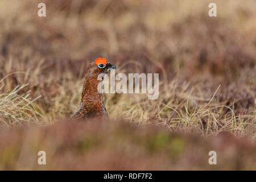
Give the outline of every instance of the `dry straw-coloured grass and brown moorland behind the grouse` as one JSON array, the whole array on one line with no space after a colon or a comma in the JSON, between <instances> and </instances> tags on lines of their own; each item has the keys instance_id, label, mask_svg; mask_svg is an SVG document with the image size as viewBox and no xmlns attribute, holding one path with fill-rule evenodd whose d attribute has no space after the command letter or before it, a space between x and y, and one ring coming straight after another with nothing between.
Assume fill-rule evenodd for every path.
<instances>
[{"instance_id":1,"label":"dry straw-coloured grass and brown moorland behind the grouse","mask_svg":"<svg viewBox=\"0 0 256 182\"><path fill-rule=\"evenodd\" d=\"M3 125L69 118L86 65L104 56L117 73L160 76L158 100L105 94L111 120L201 137L226 131L255 143L253 0L216 1L216 18L208 16L211 1L44 2L45 18L37 16L39 1L0 2Z\"/></svg>"}]
</instances>

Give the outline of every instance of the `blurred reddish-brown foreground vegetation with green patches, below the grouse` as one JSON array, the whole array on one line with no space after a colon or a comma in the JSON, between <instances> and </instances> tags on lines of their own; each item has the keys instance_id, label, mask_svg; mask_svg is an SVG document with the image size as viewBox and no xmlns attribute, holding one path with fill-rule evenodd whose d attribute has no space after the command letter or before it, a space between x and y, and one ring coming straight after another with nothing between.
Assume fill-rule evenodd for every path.
<instances>
[{"instance_id":1,"label":"blurred reddish-brown foreground vegetation with green patches, below the grouse","mask_svg":"<svg viewBox=\"0 0 256 182\"><path fill-rule=\"evenodd\" d=\"M11 137L10 137L11 136ZM0 169L19 170L253 170L256 147L250 139L221 133L203 139L163 127L124 121L59 122L51 127L1 129ZM38 165L38 152L46 165ZM210 165L209 151L217 152Z\"/></svg>"}]
</instances>

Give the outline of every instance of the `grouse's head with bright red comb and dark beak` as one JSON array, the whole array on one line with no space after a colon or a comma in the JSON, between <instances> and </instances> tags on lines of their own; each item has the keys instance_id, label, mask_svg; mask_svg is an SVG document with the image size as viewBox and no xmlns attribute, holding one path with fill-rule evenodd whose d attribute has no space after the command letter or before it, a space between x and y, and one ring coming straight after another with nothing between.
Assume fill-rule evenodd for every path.
<instances>
[{"instance_id":1,"label":"grouse's head with bright red comb and dark beak","mask_svg":"<svg viewBox=\"0 0 256 182\"><path fill-rule=\"evenodd\" d=\"M105 58L99 57L95 62L90 63L86 69L86 77L98 77L101 73L108 73L112 69L117 69L117 67L109 63Z\"/></svg>"}]
</instances>

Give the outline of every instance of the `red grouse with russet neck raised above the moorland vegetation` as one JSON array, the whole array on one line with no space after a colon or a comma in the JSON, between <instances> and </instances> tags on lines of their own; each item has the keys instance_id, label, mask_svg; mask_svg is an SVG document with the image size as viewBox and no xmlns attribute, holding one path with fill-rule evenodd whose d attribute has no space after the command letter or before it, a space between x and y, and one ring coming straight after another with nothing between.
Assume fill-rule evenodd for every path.
<instances>
[{"instance_id":1,"label":"red grouse with russet neck raised above the moorland vegetation","mask_svg":"<svg viewBox=\"0 0 256 182\"><path fill-rule=\"evenodd\" d=\"M108 118L102 94L98 92L98 84L101 80L98 80L97 78L101 73L108 73L111 69L116 68L117 67L114 64L109 63L105 58L101 57L88 65L85 72L81 103L71 119L94 117Z\"/></svg>"}]
</instances>

